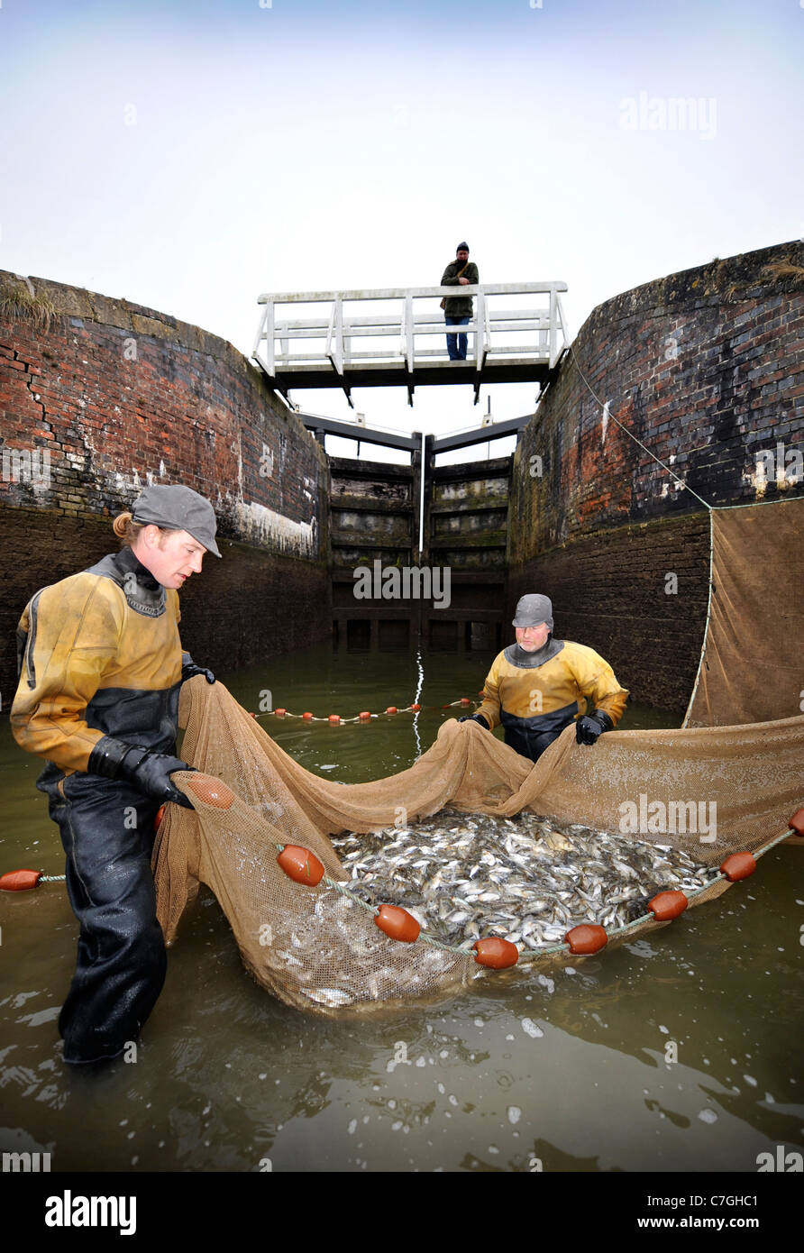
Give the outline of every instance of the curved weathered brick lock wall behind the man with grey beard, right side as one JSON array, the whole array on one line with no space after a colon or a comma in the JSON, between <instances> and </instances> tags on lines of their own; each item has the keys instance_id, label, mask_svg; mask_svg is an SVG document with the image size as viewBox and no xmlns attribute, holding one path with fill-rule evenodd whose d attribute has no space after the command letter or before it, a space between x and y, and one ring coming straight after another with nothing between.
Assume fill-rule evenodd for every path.
<instances>
[{"instance_id":1,"label":"curved weathered brick lock wall behind the man with grey beard, right side","mask_svg":"<svg viewBox=\"0 0 804 1253\"><path fill-rule=\"evenodd\" d=\"M636 700L683 710L694 682L709 525L693 491L730 505L804 490L756 472L758 454L778 442L785 456L804 450L801 267L801 244L780 244L599 306L520 439L510 608L525 591L551 595L557 634L597 648ZM581 372L693 491L614 422L604 440Z\"/></svg>"}]
</instances>

